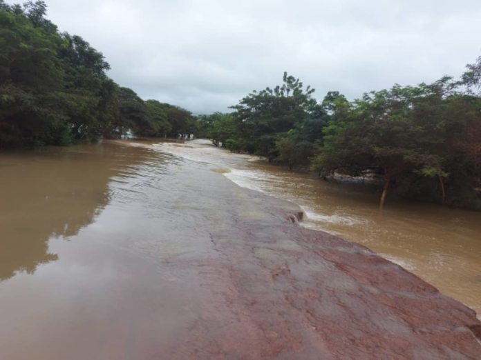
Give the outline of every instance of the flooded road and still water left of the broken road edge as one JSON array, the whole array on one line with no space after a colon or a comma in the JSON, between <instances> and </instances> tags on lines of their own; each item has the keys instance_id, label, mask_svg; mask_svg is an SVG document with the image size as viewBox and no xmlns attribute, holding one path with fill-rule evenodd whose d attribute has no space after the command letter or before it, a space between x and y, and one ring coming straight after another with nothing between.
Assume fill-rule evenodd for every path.
<instances>
[{"instance_id":1,"label":"flooded road and still water left of the broken road edge","mask_svg":"<svg viewBox=\"0 0 481 360\"><path fill-rule=\"evenodd\" d=\"M155 149L1 155L0 359L481 359L473 310Z\"/></svg>"}]
</instances>

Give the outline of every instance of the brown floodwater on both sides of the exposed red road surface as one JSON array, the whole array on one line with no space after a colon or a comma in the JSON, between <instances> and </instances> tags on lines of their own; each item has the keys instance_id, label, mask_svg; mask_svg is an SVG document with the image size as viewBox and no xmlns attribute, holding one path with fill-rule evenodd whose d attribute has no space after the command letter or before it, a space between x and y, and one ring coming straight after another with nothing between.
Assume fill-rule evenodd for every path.
<instances>
[{"instance_id":1,"label":"brown floodwater on both sides of the exposed red road surface","mask_svg":"<svg viewBox=\"0 0 481 360\"><path fill-rule=\"evenodd\" d=\"M379 217L376 194L252 160L201 141L0 154L0 359L196 358L178 352L182 334L206 306L213 319L222 308L202 284L220 296L232 281L209 266L222 259L215 243L235 246L238 219L263 216L264 200L227 179L299 204L304 226L481 313L480 213L388 199ZM207 346L200 333L192 341Z\"/></svg>"}]
</instances>

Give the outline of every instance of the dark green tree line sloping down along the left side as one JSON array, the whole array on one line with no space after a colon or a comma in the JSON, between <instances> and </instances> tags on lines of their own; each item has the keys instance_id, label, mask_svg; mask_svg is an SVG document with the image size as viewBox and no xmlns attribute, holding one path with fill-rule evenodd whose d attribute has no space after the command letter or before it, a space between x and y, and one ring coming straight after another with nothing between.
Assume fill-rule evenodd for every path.
<instances>
[{"instance_id":1,"label":"dark green tree line sloping down along the left side","mask_svg":"<svg viewBox=\"0 0 481 360\"><path fill-rule=\"evenodd\" d=\"M44 1L0 0L0 148L68 145L195 128L191 112L117 85L101 52L46 19Z\"/></svg>"}]
</instances>

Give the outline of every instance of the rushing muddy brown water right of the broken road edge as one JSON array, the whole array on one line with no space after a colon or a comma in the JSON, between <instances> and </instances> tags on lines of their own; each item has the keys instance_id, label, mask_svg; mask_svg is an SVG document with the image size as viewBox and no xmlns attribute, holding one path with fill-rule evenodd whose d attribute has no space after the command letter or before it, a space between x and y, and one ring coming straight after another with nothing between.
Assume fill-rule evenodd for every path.
<instances>
[{"instance_id":1,"label":"rushing muddy brown water right of the broken road edge","mask_svg":"<svg viewBox=\"0 0 481 360\"><path fill-rule=\"evenodd\" d=\"M193 144L171 149L216 163L240 186L297 203L303 226L367 246L476 310L481 319L481 213L413 201L387 201L379 194L321 181L245 155Z\"/></svg>"}]
</instances>

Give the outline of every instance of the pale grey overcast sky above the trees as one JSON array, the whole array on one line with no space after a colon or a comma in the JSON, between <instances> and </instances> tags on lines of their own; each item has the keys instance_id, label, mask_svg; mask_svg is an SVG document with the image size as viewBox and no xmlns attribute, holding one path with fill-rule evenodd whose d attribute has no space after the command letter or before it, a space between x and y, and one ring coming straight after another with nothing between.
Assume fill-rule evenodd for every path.
<instances>
[{"instance_id":1,"label":"pale grey overcast sky above the trees","mask_svg":"<svg viewBox=\"0 0 481 360\"><path fill-rule=\"evenodd\" d=\"M9 1L17 2L17 1ZM322 99L458 77L481 55L481 0L46 0L143 99L198 114L299 77Z\"/></svg>"}]
</instances>

